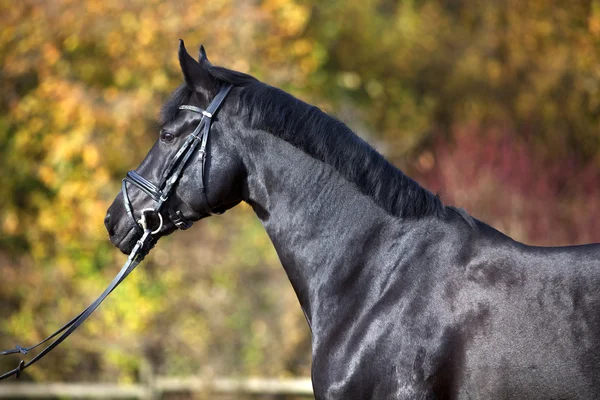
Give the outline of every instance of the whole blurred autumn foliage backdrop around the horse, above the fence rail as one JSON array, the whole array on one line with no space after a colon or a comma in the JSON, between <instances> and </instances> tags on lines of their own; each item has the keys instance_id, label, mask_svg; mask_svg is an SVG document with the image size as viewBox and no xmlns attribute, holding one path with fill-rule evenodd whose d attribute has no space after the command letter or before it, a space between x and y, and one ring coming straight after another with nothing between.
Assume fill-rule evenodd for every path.
<instances>
[{"instance_id":1,"label":"whole blurred autumn foliage backdrop around the horse, above the fence rail","mask_svg":"<svg viewBox=\"0 0 600 400\"><path fill-rule=\"evenodd\" d=\"M600 1L0 4L1 349L54 331L125 261L103 218L182 82L179 38L321 107L517 240L600 241ZM310 355L287 277L241 205L161 240L23 380L309 376Z\"/></svg>"}]
</instances>

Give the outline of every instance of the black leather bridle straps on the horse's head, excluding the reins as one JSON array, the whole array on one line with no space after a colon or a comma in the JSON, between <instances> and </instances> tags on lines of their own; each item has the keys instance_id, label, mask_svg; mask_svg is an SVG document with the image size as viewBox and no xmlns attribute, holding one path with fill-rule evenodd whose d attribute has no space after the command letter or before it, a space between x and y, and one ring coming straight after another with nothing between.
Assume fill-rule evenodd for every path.
<instances>
[{"instance_id":1,"label":"black leather bridle straps on the horse's head, excluding the reins","mask_svg":"<svg viewBox=\"0 0 600 400\"><path fill-rule=\"evenodd\" d=\"M138 189L142 190L146 193L152 200L156 202L156 207L154 208L154 212L159 215L161 224L156 229L160 231L162 228L162 216L160 212L167 203L169 196L173 191L173 187L181 177L181 174L189 161L190 157L196 149L198 149L198 145L200 148L198 149L198 153L200 155L200 191L204 195L204 210L210 215L221 214L214 212L208 203L208 196L206 194L206 187L204 182L204 174L205 174L205 164L206 164L206 144L208 142L208 134L210 133L210 126L212 123L213 116L217 113L221 104L229 94L231 90L231 85L224 86L221 88L217 96L213 99L213 101L209 104L206 110L195 106L181 106L180 110L188 110L195 113L199 113L202 115L202 119L200 123L194 129L179 151L175 154L175 157L169 163L169 166L165 170L161 182L158 186L155 186L152 182L141 176L135 171L129 171L125 179L123 179L123 184L121 186L121 192L123 192L123 202L125 203L125 209L127 210L127 214L133 220L135 226L141 230L141 227L138 224L138 221L135 219L133 214L133 207L131 205L131 201L129 200L129 196L127 194L127 183L131 183L136 186ZM192 226L192 222L187 220L181 211L174 210L172 207L167 205L166 207L167 215L169 219L175 226L179 229L188 229Z\"/></svg>"}]
</instances>

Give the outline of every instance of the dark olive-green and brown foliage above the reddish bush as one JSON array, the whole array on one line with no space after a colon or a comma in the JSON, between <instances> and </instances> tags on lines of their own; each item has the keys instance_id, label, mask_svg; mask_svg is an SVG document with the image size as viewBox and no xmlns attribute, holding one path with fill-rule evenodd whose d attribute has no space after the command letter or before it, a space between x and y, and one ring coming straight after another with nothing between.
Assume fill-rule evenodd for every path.
<instances>
[{"instance_id":1,"label":"dark olive-green and brown foliage above the reddish bush","mask_svg":"<svg viewBox=\"0 0 600 400\"><path fill-rule=\"evenodd\" d=\"M391 156L478 122L590 158L600 146L599 4L327 2L308 32L328 55L319 80L367 107Z\"/></svg>"}]
</instances>

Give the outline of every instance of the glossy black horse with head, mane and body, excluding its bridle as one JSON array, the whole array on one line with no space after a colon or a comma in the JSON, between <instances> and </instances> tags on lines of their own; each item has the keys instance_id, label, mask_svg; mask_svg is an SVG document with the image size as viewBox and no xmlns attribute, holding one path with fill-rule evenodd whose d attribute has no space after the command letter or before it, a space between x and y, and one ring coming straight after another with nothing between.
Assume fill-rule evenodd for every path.
<instances>
[{"instance_id":1,"label":"glossy black horse with head, mane and body, excluding its bridle","mask_svg":"<svg viewBox=\"0 0 600 400\"><path fill-rule=\"evenodd\" d=\"M159 185L185 164L156 237L252 206L311 327L317 399L600 398L600 244L516 242L318 108L211 65L202 48L197 62L181 42L179 61L185 84L136 170ZM207 158L181 161L201 108L229 87ZM119 195L105 221L124 253L155 204L136 186L134 218Z\"/></svg>"}]
</instances>

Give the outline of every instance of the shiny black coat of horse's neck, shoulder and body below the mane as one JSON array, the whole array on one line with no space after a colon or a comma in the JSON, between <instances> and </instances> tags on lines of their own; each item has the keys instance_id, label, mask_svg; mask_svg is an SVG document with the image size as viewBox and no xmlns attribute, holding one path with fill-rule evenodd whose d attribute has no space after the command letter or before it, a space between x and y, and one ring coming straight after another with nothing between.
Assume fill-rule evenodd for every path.
<instances>
[{"instance_id":1,"label":"shiny black coat of horse's neck, shoulder and body below the mane","mask_svg":"<svg viewBox=\"0 0 600 400\"><path fill-rule=\"evenodd\" d=\"M318 399L600 398L600 245L529 247L451 208L400 220L263 144L249 199L311 326Z\"/></svg>"}]
</instances>

